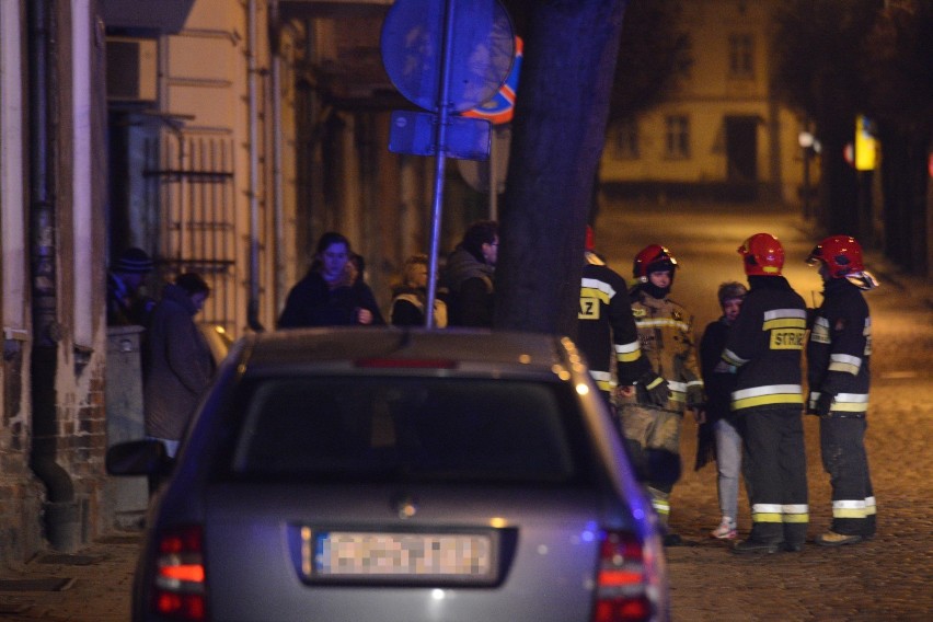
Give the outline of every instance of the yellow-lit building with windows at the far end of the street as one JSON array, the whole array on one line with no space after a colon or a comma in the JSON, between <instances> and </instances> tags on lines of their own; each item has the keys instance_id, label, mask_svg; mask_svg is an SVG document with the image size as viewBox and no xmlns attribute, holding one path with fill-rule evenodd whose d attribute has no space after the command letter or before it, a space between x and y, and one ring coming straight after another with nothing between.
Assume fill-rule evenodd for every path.
<instances>
[{"instance_id":1,"label":"yellow-lit building with windows at the far end of the street","mask_svg":"<svg viewBox=\"0 0 933 622\"><path fill-rule=\"evenodd\" d=\"M797 203L804 185L802 120L770 89L768 0L680 3L692 66L664 104L609 129L607 192ZM813 166L816 170L816 166Z\"/></svg>"}]
</instances>

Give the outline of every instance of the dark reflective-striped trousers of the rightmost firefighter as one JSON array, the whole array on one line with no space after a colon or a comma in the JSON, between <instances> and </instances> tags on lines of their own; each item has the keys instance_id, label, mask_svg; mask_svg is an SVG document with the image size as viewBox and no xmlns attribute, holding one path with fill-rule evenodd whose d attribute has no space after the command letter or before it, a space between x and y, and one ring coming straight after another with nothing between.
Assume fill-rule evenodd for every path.
<instances>
[{"instance_id":1,"label":"dark reflective-striped trousers of the rightmost firefighter","mask_svg":"<svg viewBox=\"0 0 933 622\"><path fill-rule=\"evenodd\" d=\"M830 413L819 422L822 468L832 486L832 526L845 535L875 534L875 495L865 453L865 416Z\"/></svg>"}]
</instances>

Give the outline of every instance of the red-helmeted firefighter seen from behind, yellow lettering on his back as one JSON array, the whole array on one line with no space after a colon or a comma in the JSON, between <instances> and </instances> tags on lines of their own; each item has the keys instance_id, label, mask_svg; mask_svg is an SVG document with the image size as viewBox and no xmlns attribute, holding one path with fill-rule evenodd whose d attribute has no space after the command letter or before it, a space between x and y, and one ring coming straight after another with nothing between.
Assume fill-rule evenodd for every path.
<instances>
[{"instance_id":1,"label":"red-helmeted firefighter seen from behind, yellow lettering on his back","mask_svg":"<svg viewBox=\"0 0 933 622\"><path fill-rule=\"evenodd\" d=\"M809 522L800 372L806 304L782 276L778 238L757 233L738 253L749 291L723 359L736 370L730 407L745 448L752 527L733 551L800 551Z\"/></svg>"}]
</instances>

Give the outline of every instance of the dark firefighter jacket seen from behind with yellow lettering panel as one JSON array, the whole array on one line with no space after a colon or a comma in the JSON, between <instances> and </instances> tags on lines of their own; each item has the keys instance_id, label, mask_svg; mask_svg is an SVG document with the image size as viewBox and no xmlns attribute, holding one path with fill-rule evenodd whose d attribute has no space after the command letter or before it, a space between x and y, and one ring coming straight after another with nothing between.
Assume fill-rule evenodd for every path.
<instances>
[{"instance_id":1,"label":"dark firefighter jacket seen from behind with yellow lettering panel","mask_svg":"<svg viewBox=\"0 0 933 622\"><path fill-rule=\"evenodd\" d=\"M800 355L807 331L804 299L782 276L749 276L723 359L736 367L732 410L803 404Z\"/></svg>"}]
</instances>

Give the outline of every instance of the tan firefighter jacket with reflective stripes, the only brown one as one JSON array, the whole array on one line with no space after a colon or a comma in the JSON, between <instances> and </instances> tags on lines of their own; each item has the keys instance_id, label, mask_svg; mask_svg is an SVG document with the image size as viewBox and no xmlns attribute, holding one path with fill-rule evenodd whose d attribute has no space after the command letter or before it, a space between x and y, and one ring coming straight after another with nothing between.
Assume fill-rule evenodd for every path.
<instances>
[{"instance_id":1,"label":"tan firefighter jacket with reflective stripes, the only brown one","mask_svg":"<svg viewBox=\"0 0 933 622\"><path fill-rule=\"evenodd\" d=\"M635 287L630 296L642 346L642 373L667 380L666 410L683 412L703 403L703 380L696 364L693 318L669 298L655 298Z\"/></svg>"}]
</instances>

